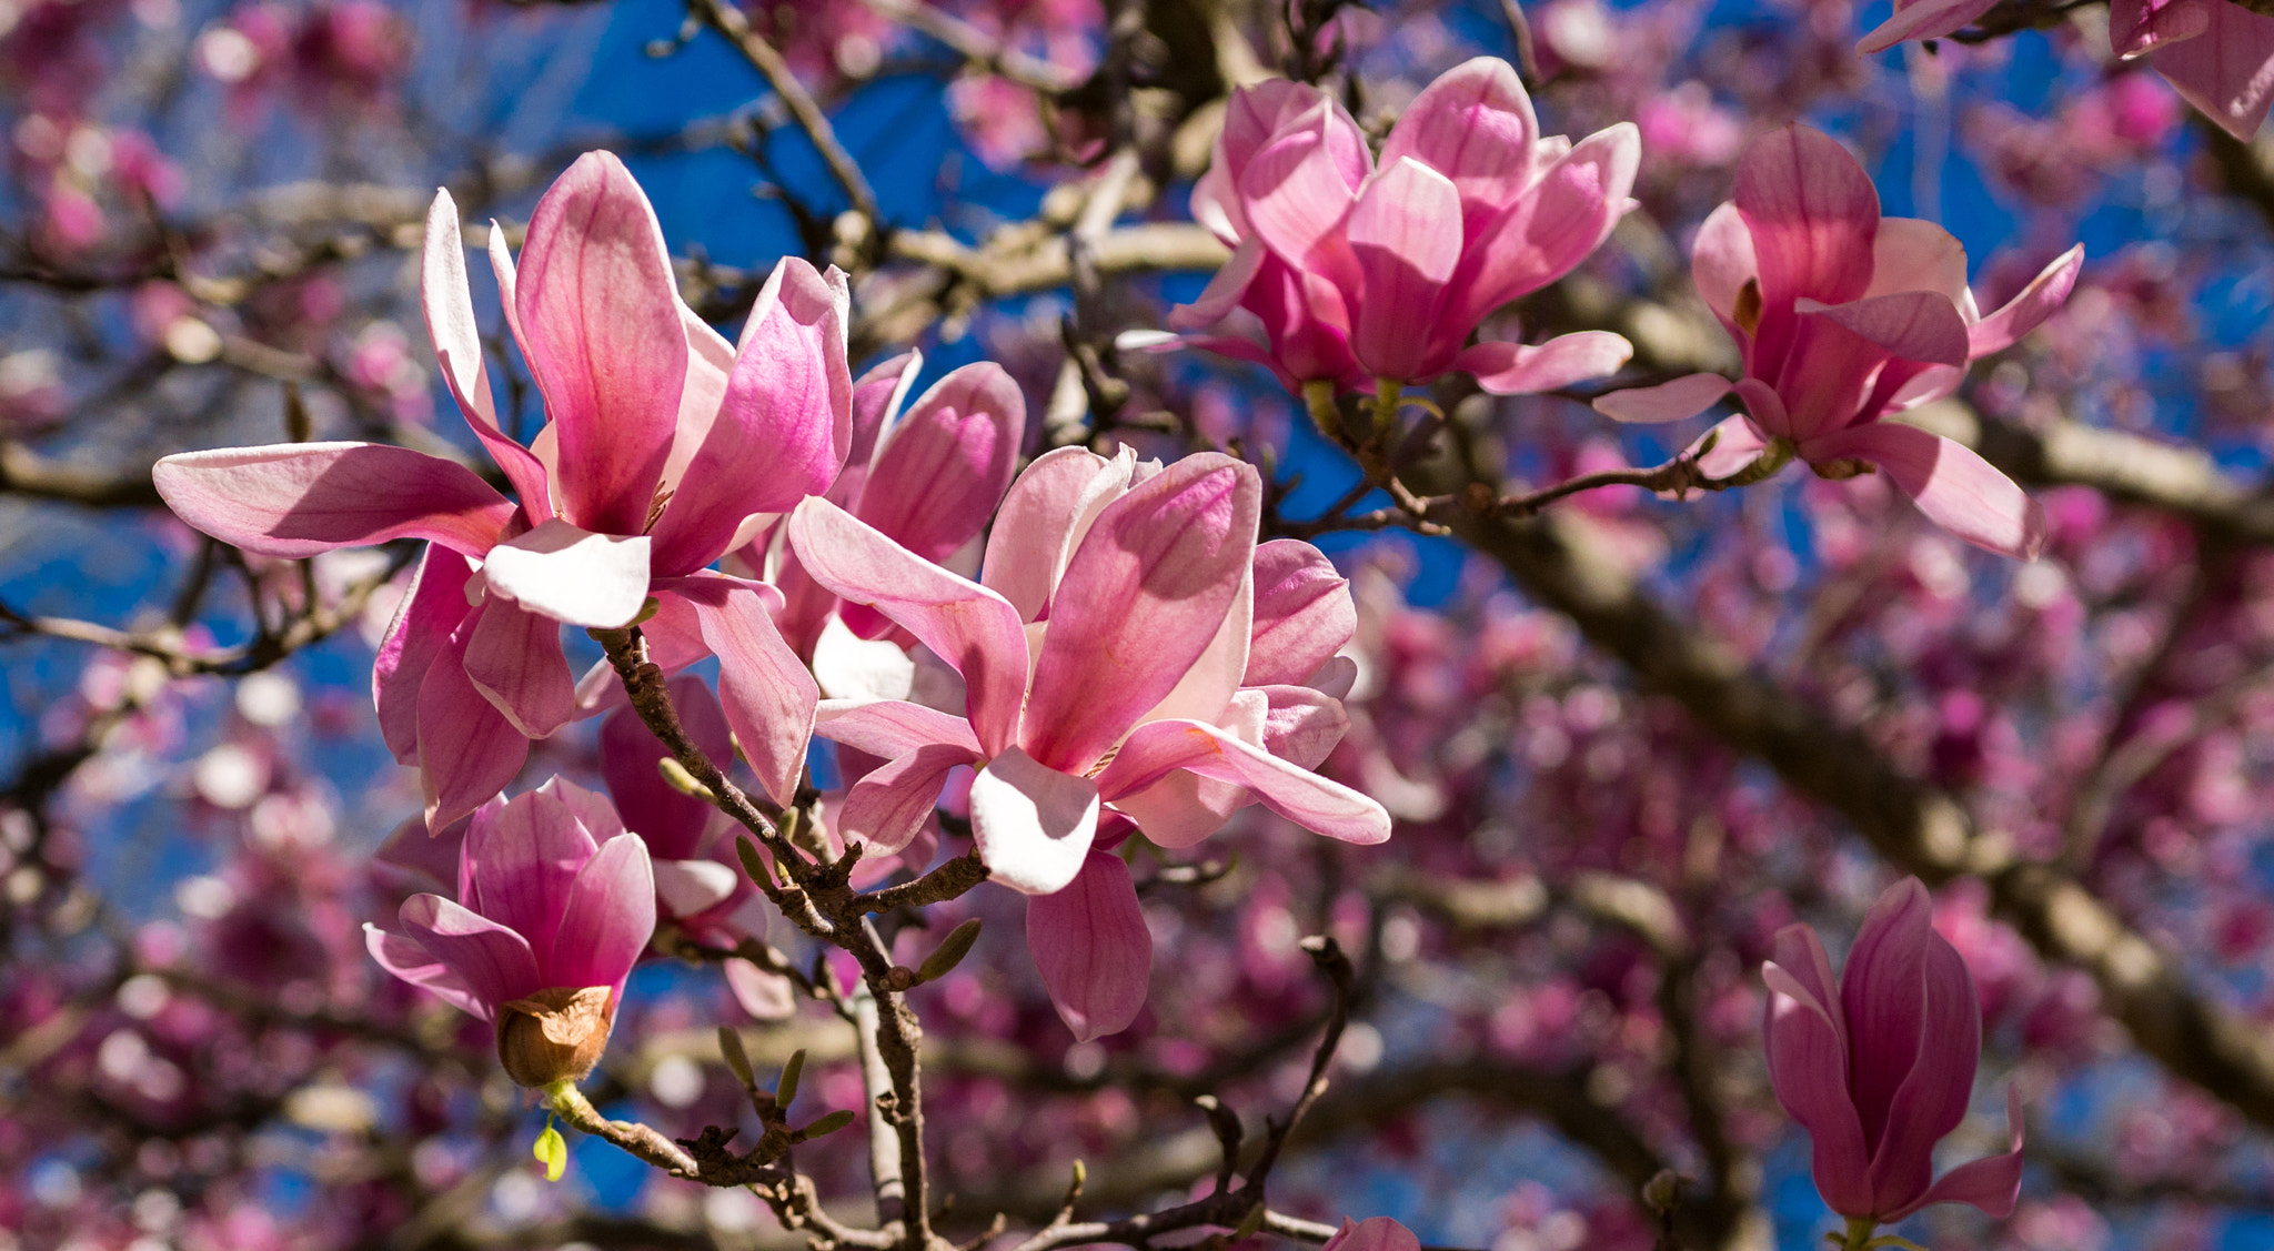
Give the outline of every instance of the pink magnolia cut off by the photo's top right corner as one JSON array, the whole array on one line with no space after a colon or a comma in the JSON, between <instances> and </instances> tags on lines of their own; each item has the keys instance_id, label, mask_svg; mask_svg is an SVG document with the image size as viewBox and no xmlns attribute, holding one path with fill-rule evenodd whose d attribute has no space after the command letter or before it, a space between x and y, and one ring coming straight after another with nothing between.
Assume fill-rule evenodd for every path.
<instances>
[{"instance_id":1,"label":"pink magnolia cut off by the photo's top right corner","mask_svg":"<svg viewBox=\"0 0 2274 1251\"><path fill-rule=\"evenodd\" d=\"M1894 16L1856 43L1858 55L1906 39L1956 34L1997 0L1897 0ZM2274 105L2274 18L2226 0L2110 0L2108 43L2147 57L2174 91L2235 139L2258 134Z\"/></svg>"}]
</instances>

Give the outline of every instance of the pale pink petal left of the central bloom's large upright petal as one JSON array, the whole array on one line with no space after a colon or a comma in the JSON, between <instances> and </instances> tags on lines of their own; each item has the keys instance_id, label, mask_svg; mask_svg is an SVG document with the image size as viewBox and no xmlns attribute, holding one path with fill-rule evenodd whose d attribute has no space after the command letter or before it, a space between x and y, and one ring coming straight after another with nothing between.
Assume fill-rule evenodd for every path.
<instances>
[{"instance_id":1,"label":"pale pink petal left of the central bloom's large upright petal","mask_svg":"<svg viewBox=\"0 0 2274 1251\"><path fill-rule=\"evenodd\" d=\"M1105 505L1128 491L1137 455L1123 448L1107 459L1087 448L1053 448L1012 482L987 535L980 582L1037 621L1051 605L1073 548L1089 535Z\"/></svg>"}]
</instances>

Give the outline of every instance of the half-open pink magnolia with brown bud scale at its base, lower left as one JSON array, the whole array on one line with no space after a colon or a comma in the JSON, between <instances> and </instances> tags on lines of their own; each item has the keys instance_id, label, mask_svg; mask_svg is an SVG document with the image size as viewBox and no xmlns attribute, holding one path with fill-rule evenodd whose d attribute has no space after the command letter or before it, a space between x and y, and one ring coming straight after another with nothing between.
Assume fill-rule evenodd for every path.
<instances>
[{"instance_id":1,"label":"half-open pink magnolia with brown bud scale at its base, lower left","mask_svg":"<svg viewBox=\"0 0 2274 1251\"><path fill-rule=\"evenodd\" d=\"M655 935L648 848L605 796L553 778L493 798L459 848L457 901L414 894L400 930L364 926L389 974L498 1026L521 1085L580 1080Z\"/></svg>"}]
</instances>

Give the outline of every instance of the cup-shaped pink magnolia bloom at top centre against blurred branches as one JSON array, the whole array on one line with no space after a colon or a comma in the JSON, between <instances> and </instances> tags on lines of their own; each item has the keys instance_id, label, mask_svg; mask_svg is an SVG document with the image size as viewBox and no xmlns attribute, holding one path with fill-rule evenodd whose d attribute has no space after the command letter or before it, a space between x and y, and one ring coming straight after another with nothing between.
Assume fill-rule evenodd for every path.
<instances>
[{"instance_id":1,"label":"cup-shaped pink magnolia bloom at top centre against blurred branches","mask_svg":"<svg viewBox=\"0 0 2274 1251\"><path fill-rule=\"evenodd\" d=\"M1194 218L1233 259L1171 325L1214 328L1194 343L1269 364L1289 389L1462 371L1508 396L1601 378L1633 355L1626 339L1467 341L1610 237L1633 207L1640 155L1630 123L1578 146L1542 139L1517 71L1496 57L1421 91L1378 164L1317 86L1244 86L1192 191Z\"/></svg>"}]
</instances>

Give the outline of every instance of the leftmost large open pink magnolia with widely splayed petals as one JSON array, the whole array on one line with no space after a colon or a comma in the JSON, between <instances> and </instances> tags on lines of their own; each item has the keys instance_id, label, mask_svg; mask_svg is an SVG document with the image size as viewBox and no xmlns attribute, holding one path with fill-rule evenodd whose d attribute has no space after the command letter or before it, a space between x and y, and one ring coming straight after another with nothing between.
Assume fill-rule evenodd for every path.
<instances>
[{"instance_id":1,"label":"leftmost large open pink magnolia with widely splayed petals","mask_svg":"<svg viewBox=\"0 0 2274 1251\"><path fill-rule=\"evenodd\" d=\"M521 264L491 227L505 321L543 393L530 446L498 423L457 209L428 214L423 300L459 412L514 487L384 444L184 453L157 489L193 528L273 557L428 539L373 673L396 760L418 764L441 828L503 789L575 719L562 626L646 623L666 671L716 655L728 723L775 798L805 764L819 689L782 644L764 585L709 573L737 537L828 489L853 430L846 284L775 266L741 343L684 303L630 171L587 152L530 216Z\"/></svg>"}]
</instances>

